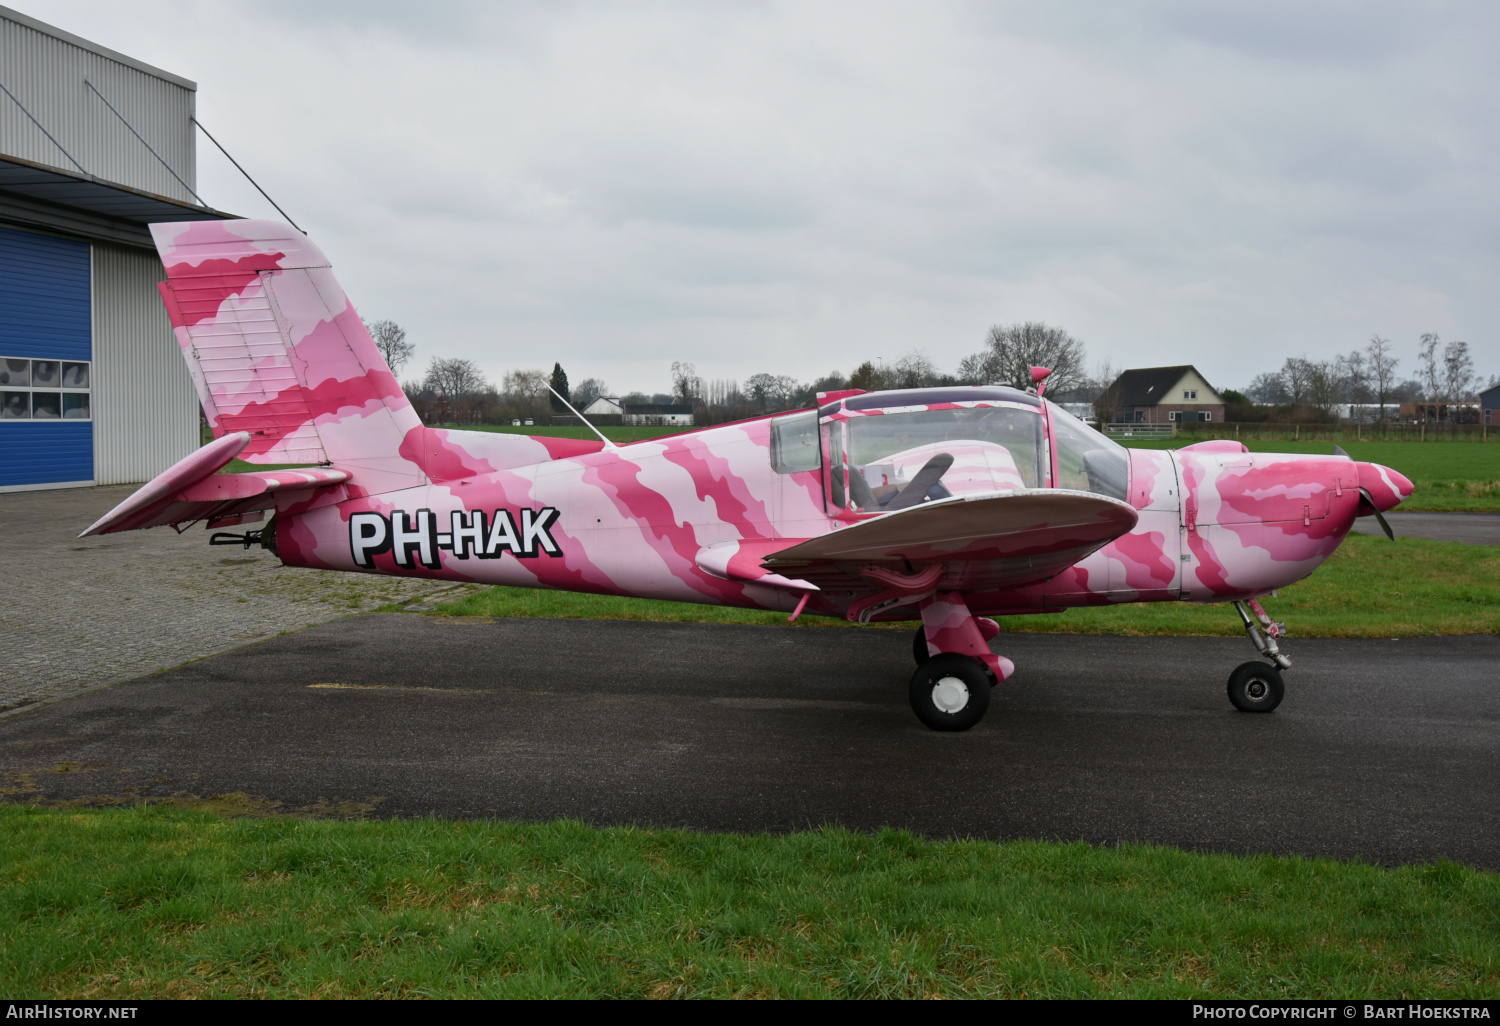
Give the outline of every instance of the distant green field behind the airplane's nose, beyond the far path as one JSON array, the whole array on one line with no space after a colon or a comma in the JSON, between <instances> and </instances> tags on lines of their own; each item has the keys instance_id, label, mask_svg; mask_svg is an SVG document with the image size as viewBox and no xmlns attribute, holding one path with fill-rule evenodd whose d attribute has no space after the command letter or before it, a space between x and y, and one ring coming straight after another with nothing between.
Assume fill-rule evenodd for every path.
<instances>
[{"instance_id":1,"label":"distant green field behind the airplane's nose, beyond the far path","mask_svg":"<svg viewBox=\"0 0 1500 1026\"><path fill-rule=\"evenodd\" d=\"M1118 440L1134 448L1182 448L1191 438ZM1402 513L1500 513L1500 434L1496 441L1372 441L1340 442L1350 456L1383 464L1416 484ZM1245 440L1252 453L1332 453L1329 441Z\"/></svg>"}]
</instances>

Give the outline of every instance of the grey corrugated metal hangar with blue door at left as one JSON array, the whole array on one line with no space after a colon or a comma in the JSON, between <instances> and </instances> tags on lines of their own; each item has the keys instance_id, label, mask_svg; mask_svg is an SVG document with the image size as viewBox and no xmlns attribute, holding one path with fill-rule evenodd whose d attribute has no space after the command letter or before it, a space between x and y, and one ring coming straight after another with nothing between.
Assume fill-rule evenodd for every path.
<instances>
[{"instance_id":1,"label":"grey corrugated metal hangar with blue door at left","mask_svg":"<svg viewBox=\"0 0 1500 1026\"><path fill-rule=\"evenodd\" d=\"M196 86L0 8L0 490L144 482L200 446L146 225L201 204Z\"/></svg>"}]
</instances>

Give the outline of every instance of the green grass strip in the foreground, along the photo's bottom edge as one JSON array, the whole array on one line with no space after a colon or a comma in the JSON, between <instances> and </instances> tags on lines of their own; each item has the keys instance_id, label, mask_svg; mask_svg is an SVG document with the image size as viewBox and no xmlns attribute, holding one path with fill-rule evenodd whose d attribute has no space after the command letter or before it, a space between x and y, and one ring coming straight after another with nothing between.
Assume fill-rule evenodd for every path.
<instances>
[{"instance_id":1,"label":"green grass strip in the foreground, along the photo's bottom edge","mask_svg":"<svg viewBox=\"0 0 1500 1026\"><path fill-rule=\"evenodd\" d=\"M12 999L1500 994L1452 862L12 806L0 874Z\"/></svg>"}]
</instances>

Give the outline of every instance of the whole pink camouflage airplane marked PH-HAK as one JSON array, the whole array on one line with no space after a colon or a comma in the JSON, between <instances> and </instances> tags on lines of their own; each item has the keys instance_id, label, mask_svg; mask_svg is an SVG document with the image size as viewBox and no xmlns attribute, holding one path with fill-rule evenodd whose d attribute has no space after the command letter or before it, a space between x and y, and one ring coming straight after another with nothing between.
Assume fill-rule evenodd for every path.
<instances>
[{"instance_id":1,"label":"whole pink camouflage airplane marked PH-HAK","mask_svg":"<svg viewBox=\"0 0 1500 1026\"><path fill-rule=\"evenodd\" d=\"M1342 452L1126 450L1046 399L1042 368L1028 390L850 388L632 444L426 428L304 236L262 220L152 236L214 441L84 536L272 513L210 543L792 621L920 616L910 704L938 730L972 728L1014 674L990 651L994 616L1126 602L1232 603L1269 662L1234 669L1230 700L1270 711L1290 660L1257 597L1412 494ZM234 458L304 468L218 472Z\"/></svg>"}]
</instances>

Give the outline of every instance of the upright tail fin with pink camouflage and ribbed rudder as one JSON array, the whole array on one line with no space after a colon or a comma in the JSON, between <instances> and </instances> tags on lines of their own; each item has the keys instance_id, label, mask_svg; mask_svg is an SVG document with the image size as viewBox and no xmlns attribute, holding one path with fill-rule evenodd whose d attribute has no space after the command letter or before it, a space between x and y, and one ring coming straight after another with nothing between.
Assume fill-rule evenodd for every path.
<instances>
[{"instance_id":1,"label":"upright tail fin with pink camouflage and ribbed rudder","mask_svg":"<svg viewBox=\"0 0 1500 1026\"><path fill-rule=\"evenodd\" d=\"M302 232L272 220L152 225L162 300L214 438L252 464L338 464L366 490L420 483L422 422Z\"/></svg>"}]
</instances>

